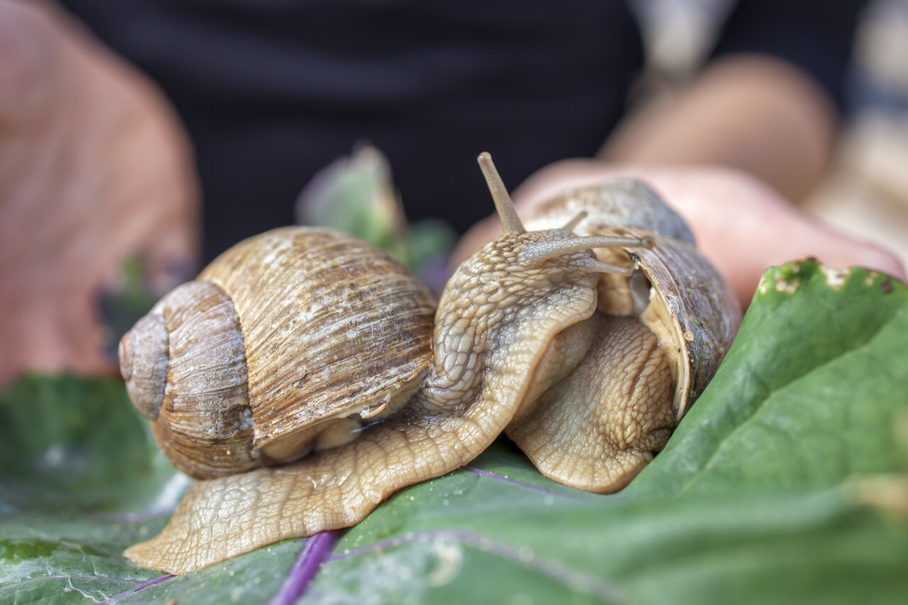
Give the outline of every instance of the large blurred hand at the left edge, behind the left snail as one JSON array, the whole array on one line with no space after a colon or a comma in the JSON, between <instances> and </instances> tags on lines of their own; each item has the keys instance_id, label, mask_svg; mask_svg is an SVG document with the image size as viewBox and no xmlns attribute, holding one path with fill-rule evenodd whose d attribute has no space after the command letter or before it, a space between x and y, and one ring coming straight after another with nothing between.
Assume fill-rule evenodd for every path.
<instances>
[{"instance_id":1,"label":"large blurred hand at the left edge, behind the left snail","mask_svg":"<svg viewBox=\"0 0 908 605\"><path fill-rule=\"evenodd\" d=\"M112 372L96 299L197 263L189 145L163 96L43 2L0 0L0 384Z\"/></svg>"}]
</instances>

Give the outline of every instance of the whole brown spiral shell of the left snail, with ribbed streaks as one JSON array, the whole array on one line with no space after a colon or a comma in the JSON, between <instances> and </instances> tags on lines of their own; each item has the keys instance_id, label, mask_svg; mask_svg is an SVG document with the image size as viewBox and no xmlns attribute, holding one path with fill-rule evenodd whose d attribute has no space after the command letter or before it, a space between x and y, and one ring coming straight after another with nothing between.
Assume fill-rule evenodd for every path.
<instances>
[{"instance_id":1,"label":"whole brown spiral shell of the left snail, with ribbed streaks","mask_svg":"<svg viewBox=\"0 0 908 605\"><path fill-rule=\"evenodd\" d=\"M428 371L434 307L368 243L277 229L165 296L123 337L123 376L177 468L246 471L349 440L405 402ZM133 364L149 348L155 361Z\"/></svg>"}]
</instances>

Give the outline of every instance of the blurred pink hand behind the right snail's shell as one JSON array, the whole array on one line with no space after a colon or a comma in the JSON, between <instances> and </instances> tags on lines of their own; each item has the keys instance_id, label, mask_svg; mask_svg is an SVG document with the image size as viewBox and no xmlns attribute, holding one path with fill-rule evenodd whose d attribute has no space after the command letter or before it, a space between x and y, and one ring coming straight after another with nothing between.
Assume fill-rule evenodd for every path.
<instances>
[{"instance_id":1,"label":"blurred pink hand behind the right snail's shell","mask_svg":"<svg viewBox=\"0 0 908 605\"><path fill-rule=\"evenodd\" d=\"M651 185L685 219L699 250L725 275L744 306L767 268L809 256L836 267L863 266L905 279L892 253L834 232L755 178L727 168L566 160L533 174L513 198L518 211L526 210L566 190L615 178ZM460 263L498 233L494 218L477 224L460 241L453 262Z\"/></svg>"}]
</instances>

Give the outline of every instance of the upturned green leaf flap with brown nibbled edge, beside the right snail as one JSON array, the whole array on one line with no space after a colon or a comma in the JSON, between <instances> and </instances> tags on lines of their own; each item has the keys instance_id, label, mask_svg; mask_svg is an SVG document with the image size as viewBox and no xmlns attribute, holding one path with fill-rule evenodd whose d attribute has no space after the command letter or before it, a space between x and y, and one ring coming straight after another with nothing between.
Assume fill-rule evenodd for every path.
<instances>
[{"instance_id":1,"label":"upturned green leaf flap with brown nibbled edge, beside the right snail","mask_svg":"<svg viewBox=\"0 0 908 605\"><path fill-rule=\"evenodd\" d=\"M803 489L904 470L893 425L908 409L906 299L881 273L771 269L713 382L628 492Z\"/></svg>"}]
</instances>

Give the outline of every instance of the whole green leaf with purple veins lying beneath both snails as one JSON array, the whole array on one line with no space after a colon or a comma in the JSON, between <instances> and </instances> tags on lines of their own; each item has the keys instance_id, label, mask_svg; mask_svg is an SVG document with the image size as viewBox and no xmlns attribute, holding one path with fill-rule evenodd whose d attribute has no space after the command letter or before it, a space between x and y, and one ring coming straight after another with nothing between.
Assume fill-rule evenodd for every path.
<instances>
[{"instance_id":1,"label":"whole green leaf with purple veins lying beneath both snails","mask_svg":"<svg viewBox=\"0 0 908 605\"><path fill-rule=\"evenodd\" d=\"M901 603L906 335L903 283L774 269L627 490L558 485L502 440L349 531L180 578L119 554L163 525L182 477L122 386L30 378L0 397L0 602Z\"/></svg>"}]
</instances>

